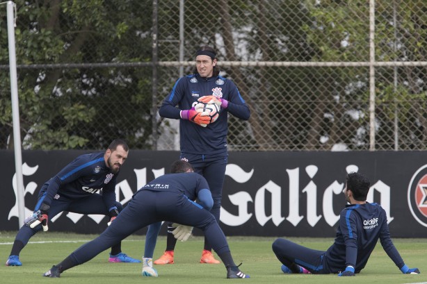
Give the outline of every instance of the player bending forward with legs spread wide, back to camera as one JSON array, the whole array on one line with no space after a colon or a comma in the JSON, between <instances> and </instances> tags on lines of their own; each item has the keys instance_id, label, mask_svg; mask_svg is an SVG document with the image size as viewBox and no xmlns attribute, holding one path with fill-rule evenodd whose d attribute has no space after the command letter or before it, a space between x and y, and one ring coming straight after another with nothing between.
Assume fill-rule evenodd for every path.
<instances>
[{"instance_id":1,"label":"player bending forward with legs spread wide, back to camera","mask_svg":"<svg viewBox=\"0 0 427 284\"><path fill-rule=\"evenodd\" d=\"M193 172L193 167L182 160L174 162L170 172L171 174L159 176L144 185L99 237L83 244L43 275L59 277L65 270L91 260L138 229L170 220L204 231L205 237L227 268L227 278L249 278L234 263L227 239L215 217L209 212L213 200L206 179ZM196 198L199 203L192 201Z\"/></svg>"}]
</instances>

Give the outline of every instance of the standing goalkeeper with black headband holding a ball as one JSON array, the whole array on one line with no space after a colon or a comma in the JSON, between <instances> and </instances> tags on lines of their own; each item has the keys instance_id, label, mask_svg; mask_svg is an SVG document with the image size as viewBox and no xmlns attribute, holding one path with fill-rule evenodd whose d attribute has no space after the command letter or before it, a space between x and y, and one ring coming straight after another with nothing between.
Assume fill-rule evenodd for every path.
<instances>
[{"instance_id":1,"label":"standing goalkeeper with black headband holding a ball","mask_svg":"<svg viewBox=\"0 0 427 284\"><path fill-rule=\"evenodd\" d=\"M236 85L219 75L217 62L214 49L207 46L200 47L195 53L194 74L177 80L172 92L164 99L159 109L159 115L170 119L180 119L180 159L190 162L195 172L206 178L213 198L211 213L219 224L228 156L227 115L230 113L239 119L248 120L250 110ZM203 112L202 103L215 103L220 107L219 117L215 122L211 122L211 117ZM161 224L153 224L147 231L146 258L152 258L160 226ZM166 251L161 258L154 261L154 264L174 263L174 250L177 242L172 235L174 229L171 224L168 224ZM207 242L206 237L200 262L219 263L213 258L211 244Z\"/></svg>"}]
</instances>

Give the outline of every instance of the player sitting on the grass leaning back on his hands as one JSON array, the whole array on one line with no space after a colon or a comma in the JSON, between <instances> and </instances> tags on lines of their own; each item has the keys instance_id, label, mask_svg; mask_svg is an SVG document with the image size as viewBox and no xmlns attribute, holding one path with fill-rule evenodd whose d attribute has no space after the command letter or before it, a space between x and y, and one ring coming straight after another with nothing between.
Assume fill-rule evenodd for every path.
<instances>
[{"instance_id":1,"label":"player sitting on the grass leaning back on his hands","mask_svg":"<svg viewBox=\"0 0 427 284\"><path fill-rule=\"evenodd\" d=\"M359 173L346 176L344 195L350 203L341 211L337 237L328 251L316 251L277 239L273 251L282 262L282 272L355 276L364 269L380 239L382 248L404 274L419 274L403 262L392 242L385 210L377 203L366 202L369 180Z\"/></svg>"}]
</instances>

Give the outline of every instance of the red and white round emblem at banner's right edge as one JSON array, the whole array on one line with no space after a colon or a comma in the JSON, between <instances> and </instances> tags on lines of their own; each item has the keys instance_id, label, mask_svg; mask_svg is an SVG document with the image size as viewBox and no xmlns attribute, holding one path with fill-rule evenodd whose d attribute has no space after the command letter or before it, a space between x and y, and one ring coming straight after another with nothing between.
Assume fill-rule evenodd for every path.
<instances>
[{"instance_id":1,"label":"red and white round emblem at banner's right edge","mask_svg":"<svg viewBox=\"0 0 427 284\"><path fill-rule=\"evenodd\" d=\"M427 165L420 167L411 178L408 205L417 222L427 227Z\"/></svg>"}]
</instances>

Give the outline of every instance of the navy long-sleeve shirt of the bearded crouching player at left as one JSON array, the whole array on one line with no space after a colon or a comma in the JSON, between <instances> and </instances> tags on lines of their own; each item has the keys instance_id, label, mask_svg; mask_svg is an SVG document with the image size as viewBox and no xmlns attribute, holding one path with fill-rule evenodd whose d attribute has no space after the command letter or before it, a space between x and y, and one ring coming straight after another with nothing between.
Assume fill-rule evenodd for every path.
<instances>
[{"instance_id":1,"label":"navy long-sleeve shirt of the bearded crouching player at left","mask_svg":"<svg viewBox=\"0 0 427 284\"><path fill-rule=\"evenodd\" d=\"M102 191L108 210L115 208L115 183L118 174L111 173L104 160L104 152L89 153L75 158L49 179L40 190L39 202L50 206L52 199L80 199ZM37 208L36 208L37 209Z\"/></svg>"}]
</instances>

